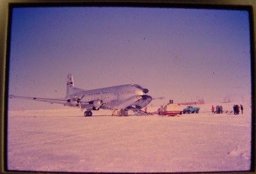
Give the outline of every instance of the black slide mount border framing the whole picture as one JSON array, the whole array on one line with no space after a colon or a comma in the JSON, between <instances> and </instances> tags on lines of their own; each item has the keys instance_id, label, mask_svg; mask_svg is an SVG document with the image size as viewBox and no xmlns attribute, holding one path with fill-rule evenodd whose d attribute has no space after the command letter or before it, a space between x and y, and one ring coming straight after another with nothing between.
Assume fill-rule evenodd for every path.
<instances>
[{"instance_id":1,"label":"black slide mount border framing the whole picture","mask_svg":"<svg viewBox=\"0 0 256 174\"><path fill-rule=\"evenodd\" d=\"M9 57L10 57L10 29L12 28L12 9L19 7L65 7L65 6L109 6L109 7L145 7L145 8L199 8L218 10L246 10L250 17L250 44L251 44L251 78L252 78L252 152L251 170L236 172L206 172L206 173L256 173L255 171L255 34L256 34L256 1L255 0L2 0L0 2L0 172L1 173L70 173L70 172L38 172L38 171L11 171L7 166L7 123L8 123L8 78L9 78ZM198 172L193 172L198 173ZM204 172L199 172L204 173Z\"/></svg>"}]
</instances>

